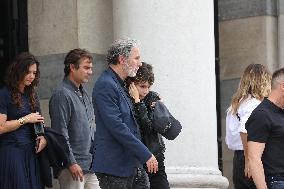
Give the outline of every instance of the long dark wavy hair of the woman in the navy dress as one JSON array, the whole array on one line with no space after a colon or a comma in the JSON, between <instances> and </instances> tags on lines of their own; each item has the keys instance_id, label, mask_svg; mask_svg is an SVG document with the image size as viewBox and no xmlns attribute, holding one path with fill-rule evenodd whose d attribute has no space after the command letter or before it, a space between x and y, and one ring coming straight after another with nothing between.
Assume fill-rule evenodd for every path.
<instances>
[{"instance_id":1,"label":"long dark wavy hair of the woman in the navy dress","mask_svg":"<svg viewBox=\"0 0 284 189\"><path fill-rule=\"evenodd\" d=\"M5 84L7 88L11 91L12 103L16 104L18 108L22 108L23 102L21 98L21 92L19 86L24 80L25 76L29 73L29 68L33 64L37 66L37 72L35 79L31 85L25 87L25 94L28 95L29 104L32 111L34 112L38 107L37 96L36 96L36 87L39 83L39 62L34 55L23 52L16 56L12 64L8 67L5 77Z\"/></svg>"}]
</instances>

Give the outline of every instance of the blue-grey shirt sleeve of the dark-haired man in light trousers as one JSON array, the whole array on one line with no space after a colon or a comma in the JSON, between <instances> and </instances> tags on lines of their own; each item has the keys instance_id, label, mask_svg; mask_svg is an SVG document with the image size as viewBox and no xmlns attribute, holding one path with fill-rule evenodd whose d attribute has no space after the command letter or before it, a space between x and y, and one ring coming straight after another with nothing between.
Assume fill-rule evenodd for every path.
<instances>
[{"instance_id":1,"label":"blue-grey shirt sleeve of the dark-haired man in light trousers","mask_svg":"<svg viewBox=\"0 0 284 189\"><path fill-rule=\"evenodd\" d=\"M62 91L54 93L50 98L49 115L51 120L51 128L61 133L67 141L71 164L76 163L68 135L68 123L70 122L71 118L71 107L67 96L64 95Z\"/></svg>"}]
</instances>

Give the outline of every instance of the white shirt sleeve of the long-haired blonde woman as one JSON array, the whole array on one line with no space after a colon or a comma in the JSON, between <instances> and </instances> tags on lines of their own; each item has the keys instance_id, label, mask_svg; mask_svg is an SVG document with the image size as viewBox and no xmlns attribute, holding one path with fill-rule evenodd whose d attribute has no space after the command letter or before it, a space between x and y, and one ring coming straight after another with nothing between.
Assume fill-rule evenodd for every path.
<instances>
[{"instance_id":1,"label":"white shirt sleeve of the long-haired blonde woman","mask_svg":"<svg viewBox=\"0 0 284 189\"><path fill-rule=\"evenodd\" d=\"M253 103L242 107L242 110L238 112L239 116L240 116L240 124L239 124L239 128L238 128L239 133L247 133L245 124L246 124L248 118L250 117L252 111L258 105L259 105L259 102L254 101Z\"/></svg>"}]
</instances>

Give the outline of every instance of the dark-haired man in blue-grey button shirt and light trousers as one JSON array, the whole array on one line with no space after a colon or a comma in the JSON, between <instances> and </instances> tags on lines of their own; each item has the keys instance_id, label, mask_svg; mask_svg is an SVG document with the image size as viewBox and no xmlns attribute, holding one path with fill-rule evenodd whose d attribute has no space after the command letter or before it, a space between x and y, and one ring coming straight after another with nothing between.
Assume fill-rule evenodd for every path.
<instances>
[{"instance_id":1,"label":"dark-haired man in blue-grey button shirt and light trousers","mask_svg":"<svg viewBox=\"0 0 284 189\"><path fill-rule=\"evenodd\" d=\"M61 189L95 188L90 170L94 133L92 102L83 88L92 75L93 58L83 49L73 49L65 57L65 77L49 101L51 127L64 135L69 146L70 165L55 170Z\"/></svg>"}]
</instances>

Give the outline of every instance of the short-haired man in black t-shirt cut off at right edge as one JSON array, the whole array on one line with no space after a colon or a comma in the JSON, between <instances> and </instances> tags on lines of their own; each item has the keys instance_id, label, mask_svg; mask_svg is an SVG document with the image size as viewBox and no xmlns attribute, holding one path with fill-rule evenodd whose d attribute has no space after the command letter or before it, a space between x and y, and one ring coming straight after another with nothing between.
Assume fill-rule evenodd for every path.
<instances>
[{"instance_id":1,"label":"short-haired man in black t-shirt cut off at right edge","mask_svg":"<svg viewBox=\"0 0 284 189\"><path fill-rule=\"evenodd\" d=\"M271 93L246 123L249 168L258 189L284 188L284 68L275 71Z\"/></svg>"}]
</instances>

